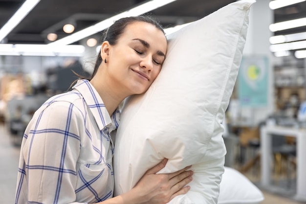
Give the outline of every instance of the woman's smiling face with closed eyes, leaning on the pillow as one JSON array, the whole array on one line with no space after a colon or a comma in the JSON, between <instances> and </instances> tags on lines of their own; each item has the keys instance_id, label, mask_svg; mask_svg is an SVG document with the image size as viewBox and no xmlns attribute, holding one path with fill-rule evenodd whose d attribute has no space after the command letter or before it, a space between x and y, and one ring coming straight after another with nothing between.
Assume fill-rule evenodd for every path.
<instances>
[{"instance_id":1,"label":"woman's smiling face with closed eyes, leaning on the pillow","mask_svg":"<svg viewBox=\"0 0 306 204\"><path fill-rule=\"evenodd\" d=\"M159 74L167 40L154 25L135 22L127 25L117 44L109 45L108 51L108 75L114 82L112 86L127 91L127 95L139 94L147 91Z\"/></svg>"}]
</instances>

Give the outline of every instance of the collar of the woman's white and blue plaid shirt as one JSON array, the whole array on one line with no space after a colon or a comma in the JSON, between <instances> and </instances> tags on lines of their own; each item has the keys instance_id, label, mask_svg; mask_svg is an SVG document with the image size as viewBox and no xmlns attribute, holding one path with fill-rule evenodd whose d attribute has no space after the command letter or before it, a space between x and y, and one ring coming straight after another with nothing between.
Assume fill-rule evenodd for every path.
<instances>
[{"instance_id":1,"label":"collar of the woman's white and blue plaid shirt","mask_svg":"<svg viewBox=\"0 0 306 204\"><path fill-rule=\"evenodd\" d=\"M81 93L100 130L106 126L109 128L109 132L118 128L120 121L119 108L110 117L102 98L88 80L78 80L72 89Z\"/></svg>"}]
</instances>

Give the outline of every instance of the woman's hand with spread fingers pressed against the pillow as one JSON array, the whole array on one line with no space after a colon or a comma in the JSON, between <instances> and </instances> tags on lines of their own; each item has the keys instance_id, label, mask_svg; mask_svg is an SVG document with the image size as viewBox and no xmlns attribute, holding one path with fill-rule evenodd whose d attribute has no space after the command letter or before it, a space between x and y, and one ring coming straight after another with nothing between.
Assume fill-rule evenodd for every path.
<instances>
[{"instance_id":1,"label":"woman's hand with spread fingers pressed against the pillow","mask_svg":"<svg viewBox=\"0 0 306 204\"><path fill-rule=\"evenodd\" d=\"M139 203L166 204L175 196L189 191L190 186L185 185L192 181L193 172L187 171L191 166L170 174L156 174L165 167L167 161L163 159L149 169L131 190L139 196Z\"/></svg>"}]
</instances>

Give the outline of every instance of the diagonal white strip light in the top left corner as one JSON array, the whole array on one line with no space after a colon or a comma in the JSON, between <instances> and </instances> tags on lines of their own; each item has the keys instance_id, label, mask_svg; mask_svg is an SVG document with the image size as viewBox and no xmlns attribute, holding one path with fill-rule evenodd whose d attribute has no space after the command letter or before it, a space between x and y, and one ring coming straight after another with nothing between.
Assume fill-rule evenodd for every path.
<instances>
[{"instance_id":1,"label":"diagonal white strip light in the top left corner","mask_svg":"<svg viewBox=\"0 0 306 204\"><path fill-rule=\"evenodd\" d=\"M40 0L26 0L0 29L0 42L22 21Z\"/></svg>"}]
</instances>

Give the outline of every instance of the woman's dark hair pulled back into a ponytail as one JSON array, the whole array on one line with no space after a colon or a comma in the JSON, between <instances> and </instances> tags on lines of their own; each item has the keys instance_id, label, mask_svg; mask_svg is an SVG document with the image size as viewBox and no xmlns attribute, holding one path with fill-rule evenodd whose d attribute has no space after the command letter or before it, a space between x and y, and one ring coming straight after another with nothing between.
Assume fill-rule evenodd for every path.
<instances>
[{"instance_id":1,"label":"woman's dark hair pulled back into a ponytail","mask_svg":"<svg viewBox=\"0 0 306 204\"><path fill-rule=\"evenodd\" d=\"M118 39L120 38L121 34L124 33L125 28L127 25L135 22L145 22L151 23L156 28L161 30L164 34L164 29L162 28L161 24L156 20L153 19L150 15L142 15L142 16L135 16L135 17L126 17L115 21L104 33L102 36L102 42L108 41L110 45L116 45ZM97 56L96 63L94 65L93 73L91 78L97 73L97 70L102 63L102 57L100 53Z\"/></svg>"}]
</instances>

